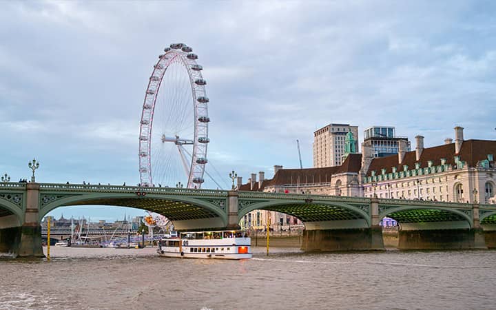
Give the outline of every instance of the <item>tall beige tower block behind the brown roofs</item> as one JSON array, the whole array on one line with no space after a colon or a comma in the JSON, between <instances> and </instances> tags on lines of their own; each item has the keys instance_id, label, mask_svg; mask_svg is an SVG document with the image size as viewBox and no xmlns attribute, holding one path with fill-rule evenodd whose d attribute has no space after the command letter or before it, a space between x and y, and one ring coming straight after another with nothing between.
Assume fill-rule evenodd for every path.
<instances>
[{"instance_id":1,"label":"tall beige tower block behind the brown roofs","mask_svg":"<svg viewBox=\"0 0 496 310\"><path fill-rule=\"evenodd\" d=\"M345 141L351 132L358 152L358 126L329 124L313 132L313 167L335 167L343 162Z\"/></svg>"}]
</instances>

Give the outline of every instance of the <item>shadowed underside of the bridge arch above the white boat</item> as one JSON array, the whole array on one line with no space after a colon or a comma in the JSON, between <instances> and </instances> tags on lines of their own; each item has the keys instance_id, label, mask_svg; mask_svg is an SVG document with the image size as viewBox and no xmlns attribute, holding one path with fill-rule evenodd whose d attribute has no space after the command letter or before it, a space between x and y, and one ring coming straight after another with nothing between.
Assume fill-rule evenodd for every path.
<instances>
[{"instance_id":1,"label":"shadowed underside of the bridge arch above the white boat","mask_svg":"<svg viewBox=\"0 0 496 310\"><path fill-rule=\"evenodd\" d=\"M156 198L98 198L84 200L74 205L112 205L119 207L133 207L161 214L172 221L174 229L206 229L219 228L225 224L214 211L192 203L163 200Z\"/></svg>"}]
</instances>

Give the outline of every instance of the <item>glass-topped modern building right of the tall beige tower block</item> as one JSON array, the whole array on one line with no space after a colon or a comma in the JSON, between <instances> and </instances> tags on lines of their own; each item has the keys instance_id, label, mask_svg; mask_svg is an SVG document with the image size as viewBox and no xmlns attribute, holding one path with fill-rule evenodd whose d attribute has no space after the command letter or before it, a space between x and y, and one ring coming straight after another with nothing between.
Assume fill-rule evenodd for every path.
<instances>
[{"instance_id":1,"label":"glass-topped modern building right of the tall beige tower block","mask_svg":"<svg viewBox=\"0 0 496 310\"><path fill-rule=\"evenodd\" d=\"M373 157L385 157L398 153L399 143L406 143L406 152L411 146L408 137L396 136L395 127L373 126L364 130L364 144L372 147Z\"/></svg>"}]
</instances>

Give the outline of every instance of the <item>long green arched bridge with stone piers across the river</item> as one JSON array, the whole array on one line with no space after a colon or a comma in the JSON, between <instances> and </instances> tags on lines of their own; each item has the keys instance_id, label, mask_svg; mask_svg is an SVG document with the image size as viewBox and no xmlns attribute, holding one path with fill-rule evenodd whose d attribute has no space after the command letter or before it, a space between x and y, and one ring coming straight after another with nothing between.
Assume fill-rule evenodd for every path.
<instances>
[{"instance_id":1,"label":"long green arched bridge with stone piers across the river","mask_svg":"<svg viewBox=\"0 0 496 310\"><path fill-rule=\"evenodd\" d=\"M134 207L178 230L234 229L250 211L278 211L305 226L304 251L384 249L380 221L400 223L400 249L496 247L496 205L238 192L172 187L0 183L0 252L43 256L41 219L77 205Z\"/></svg>"}]
</instances>

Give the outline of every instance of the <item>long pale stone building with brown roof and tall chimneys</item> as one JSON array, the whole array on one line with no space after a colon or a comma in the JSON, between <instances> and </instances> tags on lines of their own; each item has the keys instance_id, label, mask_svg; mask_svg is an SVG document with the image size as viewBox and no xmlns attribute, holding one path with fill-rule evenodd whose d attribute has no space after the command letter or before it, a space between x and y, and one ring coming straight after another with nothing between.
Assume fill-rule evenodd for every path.
<instances>
[{"instance_id":1,"label":"long pale stone building with brown roof and tall chimneys","mask_svg":"<svg viewBox=\"0 0 496 310\"><path fill-rule=\"evenodd\" d=\"M353 141L353 139L351 139ZM238 189L291 194L342 195L397 199L419 199L457 203L495 203L496 141L464 141L463 128L455 127L455 141L424 148L424 137L416 136L415 151L408 152L404 141L398 153L374 157L371 145L362 144L362 154L343 155L341 165L306 169L282 169L274 166L274 176L251 174L248 183L238 177ZM353 141L354 142L354 141ZM345 149L353 149L346 147ZM256 214L258 212L258 214ZM265 213L257 210L244 223L265 225ZM285 214L283 223L297 223ZM250 220L249 220L250 219ZM255 219L255 222L254 222ZM258 219L258 221L257 221ZM279 220L280 221L280 220ZM272 224L280 223L271 220Z\"/></svg>"}]
</instances>

